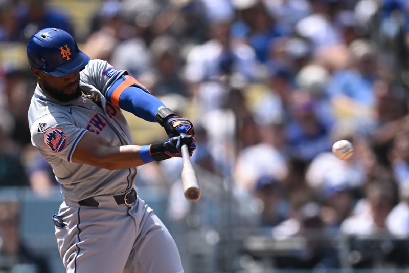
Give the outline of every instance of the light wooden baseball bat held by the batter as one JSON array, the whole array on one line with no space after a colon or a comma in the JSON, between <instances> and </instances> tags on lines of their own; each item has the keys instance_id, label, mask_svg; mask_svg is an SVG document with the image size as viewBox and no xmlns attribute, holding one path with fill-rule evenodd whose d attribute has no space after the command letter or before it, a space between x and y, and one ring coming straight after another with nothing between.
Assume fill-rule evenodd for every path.
<instances>
[{"instance_id":1,"label":"light wooden baseball bat held by the batter","mask_svg":"<svg viewBox=\"0 0 409 273\"><path fill-rule=\"evenodd\" d=\"M183 160L181 174L183 193L189 201L196 201L200 197L200 187L192 161L190 161L189 149L186 144L181 146L181 153Z\"/></svg>"}]
</instances>

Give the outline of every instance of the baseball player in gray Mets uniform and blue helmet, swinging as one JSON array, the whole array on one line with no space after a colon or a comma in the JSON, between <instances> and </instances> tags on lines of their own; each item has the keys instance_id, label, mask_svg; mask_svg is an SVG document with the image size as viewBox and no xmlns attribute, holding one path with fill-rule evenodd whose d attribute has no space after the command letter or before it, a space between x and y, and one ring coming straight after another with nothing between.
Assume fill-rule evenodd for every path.
<instances>
[{"instance_id":1,"label":"baseball player in gray Mets uniform and blue helmet, swinging","mask_svg":"<svg viewBox=\"0 0 409 273\"><path fill-rule=\"evenodd\" d=\"M183 272L175 242L138 197L136 166L192 154L193 124L126 71L90 60L67 32L46 28L27 45L38 79L28 111L32 144L53 167L64 200L53 216L67 272ZM158 122L169 140L133 145L121 109Z\"/></svg>"}]
</instances>

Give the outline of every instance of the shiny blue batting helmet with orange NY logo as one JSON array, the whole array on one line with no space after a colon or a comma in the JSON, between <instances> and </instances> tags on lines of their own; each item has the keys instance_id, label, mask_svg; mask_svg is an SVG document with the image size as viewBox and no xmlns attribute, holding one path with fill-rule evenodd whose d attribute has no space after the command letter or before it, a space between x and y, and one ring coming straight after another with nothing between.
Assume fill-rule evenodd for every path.
<instances>
[{"instance_id":1,"label":"shiny blue batting helmet with orange NY logo","mask_svg":"<svg viewBox=\"0 0 409 273\"><path fill-rule=\"evenodd\" d=\"M30 66L54 77L63 77L85 67L89 57L78 49L74 38L62 29L45 28L27 44Z\"/></svg>"}]
</instances>

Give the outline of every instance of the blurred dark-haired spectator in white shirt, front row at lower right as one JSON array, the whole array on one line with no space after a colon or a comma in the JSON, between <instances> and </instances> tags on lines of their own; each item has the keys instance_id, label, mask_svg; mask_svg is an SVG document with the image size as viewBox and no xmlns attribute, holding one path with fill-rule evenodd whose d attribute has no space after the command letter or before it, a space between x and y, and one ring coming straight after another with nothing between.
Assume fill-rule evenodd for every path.
<instances>
[{"instance_id":1,"label":"blurred dark-haired spectator in white shirt, front row at lower right","mask_svg":"<svg viewBox=\"0 0 409 273\"><path fill-rule=\"evenodd\" d=\"M402 230L398 220L396 228L389 229L393 207L396 204L396 189L392 180L371 181L366 187L366 199L360 200L352 216L342 226L349 245L348 258L352 268L394 268L407 267L407 243L396 240L391 231ZM396 213L402 214L401 205Z\"/></svg>"}]
</instances>

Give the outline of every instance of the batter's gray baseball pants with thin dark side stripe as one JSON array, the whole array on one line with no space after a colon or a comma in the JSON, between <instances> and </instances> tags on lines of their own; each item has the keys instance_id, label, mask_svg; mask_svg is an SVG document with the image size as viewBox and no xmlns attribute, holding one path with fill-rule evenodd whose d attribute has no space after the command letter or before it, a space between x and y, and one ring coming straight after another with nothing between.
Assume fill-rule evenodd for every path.
<instances>
[{"instance_id":1,"label":"batter's gray baseball pants with thin dark side stripe","mask_svg":"<svg viewBox=\"0 0 409 273\"><path fill-rule=\"evenodd\" d=\"M94 197L99 206L64 199L65 227L55 227L67 273L184 272L176 244L142 199L118 205L112 196Z\"/></svg>"}]
</instances>

